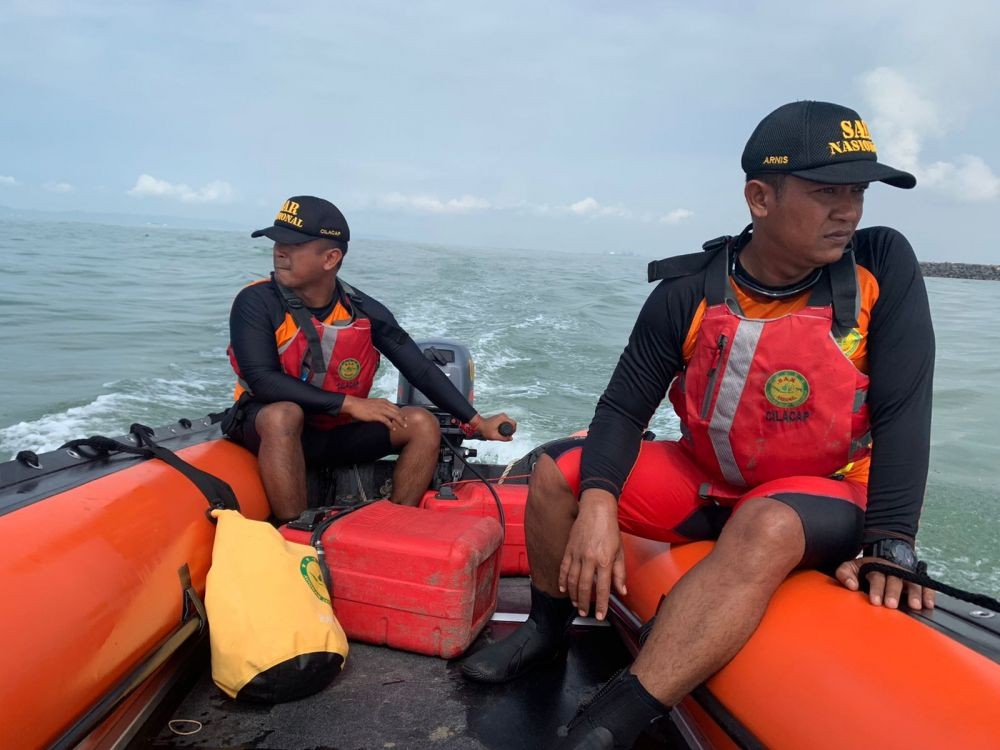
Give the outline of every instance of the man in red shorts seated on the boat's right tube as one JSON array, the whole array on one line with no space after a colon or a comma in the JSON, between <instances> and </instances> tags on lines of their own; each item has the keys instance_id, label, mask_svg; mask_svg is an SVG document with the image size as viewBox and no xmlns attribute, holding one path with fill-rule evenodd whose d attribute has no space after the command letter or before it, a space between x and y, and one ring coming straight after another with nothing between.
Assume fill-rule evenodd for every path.
<instances>
[{"instance_id":1,"label":"man in red shorts seated on the boat's right tube","mask_svg":"<svg viewBox=\"0 0 1000 750\"><path fill-rule=\"evenodd\" d=\"M625 592L619 529L717 538L560 748L631 747L732 659L796 568L836 567L856 591L861 549L916 565L934 335L909 243L857 229L870 182L916 180L877 160L857 112L808 101L761 121L743 170L750 226L650 264L660 283L587 437L551 446L535 467L528 621L462 666L505 682L554 658L592 600L603 619L612 587ZM668 393L681 438L643 441ZM898 606L899 578L868 580L873 605ZM910 583L906 596L912 609L934 603Z\"/></svg>"}]
</instances>

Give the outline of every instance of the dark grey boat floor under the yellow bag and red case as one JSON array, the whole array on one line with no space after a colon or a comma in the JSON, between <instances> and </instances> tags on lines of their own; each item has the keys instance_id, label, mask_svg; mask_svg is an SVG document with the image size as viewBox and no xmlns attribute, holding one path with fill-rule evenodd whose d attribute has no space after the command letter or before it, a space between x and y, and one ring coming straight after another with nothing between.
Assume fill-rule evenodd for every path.
<instances>
[{"instance_id":1,"label":"dark grey boat floor under the yellow bag and red case","mask_svg":"<svg viewBox=\"0 0 1000 750\"><path fill-rule=\"evenodd\" d=\"M501 614L470 651L505 637L527 609L527 579L503 579ZM180 704L133 746L162 750L550 748L557 728L575 714L580 701L630 661L611 627L585 621L573 627L571 636L565 661L499 686L467 682L457 660L352 643L344 671L328 688L273 706L230 700L204 667ZM192 730L197 731L178 733ZM668 724L661 731L672 728ZM647 739L642 746L685 747L676 735Z\"/></svg>"}]
</instances>

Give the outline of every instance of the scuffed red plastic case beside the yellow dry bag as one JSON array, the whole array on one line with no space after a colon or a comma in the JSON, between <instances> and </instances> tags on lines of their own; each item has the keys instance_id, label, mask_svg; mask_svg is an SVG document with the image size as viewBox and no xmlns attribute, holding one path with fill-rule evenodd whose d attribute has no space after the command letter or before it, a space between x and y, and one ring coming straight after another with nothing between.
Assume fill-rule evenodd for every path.
<instances>
[{"instance_id":1,"label":"scuffed red plastic case beside the yellow dry bag","mask_svg":"<svg viewBox=\"0 0 1000 750\"><path fill-rule=\"evenodd\" d=\"M500 524L387 500L341 516L322 538L347 637L445 659L465 651L496 609Z\"/></svg>"}]
</instances>

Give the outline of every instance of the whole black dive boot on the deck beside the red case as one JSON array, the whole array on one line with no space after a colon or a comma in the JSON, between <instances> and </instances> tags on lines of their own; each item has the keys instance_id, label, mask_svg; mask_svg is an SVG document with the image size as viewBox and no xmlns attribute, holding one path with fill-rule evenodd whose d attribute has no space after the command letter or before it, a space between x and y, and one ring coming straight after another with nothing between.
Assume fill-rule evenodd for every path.
<instances>
[{"instance_id":1,"label":"whole black dive boot on the deck beside the red case","mask_svg":"<svg viewBox=\"0 0 1000 750\"><path fill-rule=\"evenodd\" d=\"M507 682L554 659L566 640L576 607L531 587L531 613L504 640L480 649L462 662L462 674L475 682Z\"/></svg>"}]
</instances>

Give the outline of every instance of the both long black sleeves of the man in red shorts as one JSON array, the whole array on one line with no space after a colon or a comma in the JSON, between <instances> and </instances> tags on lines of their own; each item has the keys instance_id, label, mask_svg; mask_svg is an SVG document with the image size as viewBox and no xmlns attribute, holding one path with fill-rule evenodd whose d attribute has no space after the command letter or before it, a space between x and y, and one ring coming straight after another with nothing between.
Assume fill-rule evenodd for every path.
<instances>
[{"instance_id":1,"label":"both long black sleeves of the man in red shorts","mask_svg":"<svg viewBox=\"0 0 1000 750\"><path fill-rule=\"evenodd\" d=\"M920 266L910 243L887 227L858 231L859 266L878 282L868 329L872 458L865 542L913 540L930 455L934 330ZM683 346L705 273L660 282L649 295L628 345L597 404L584 444L581 491L621 493L642 433L685 366Z\"/></svg>"}]
</instances>

